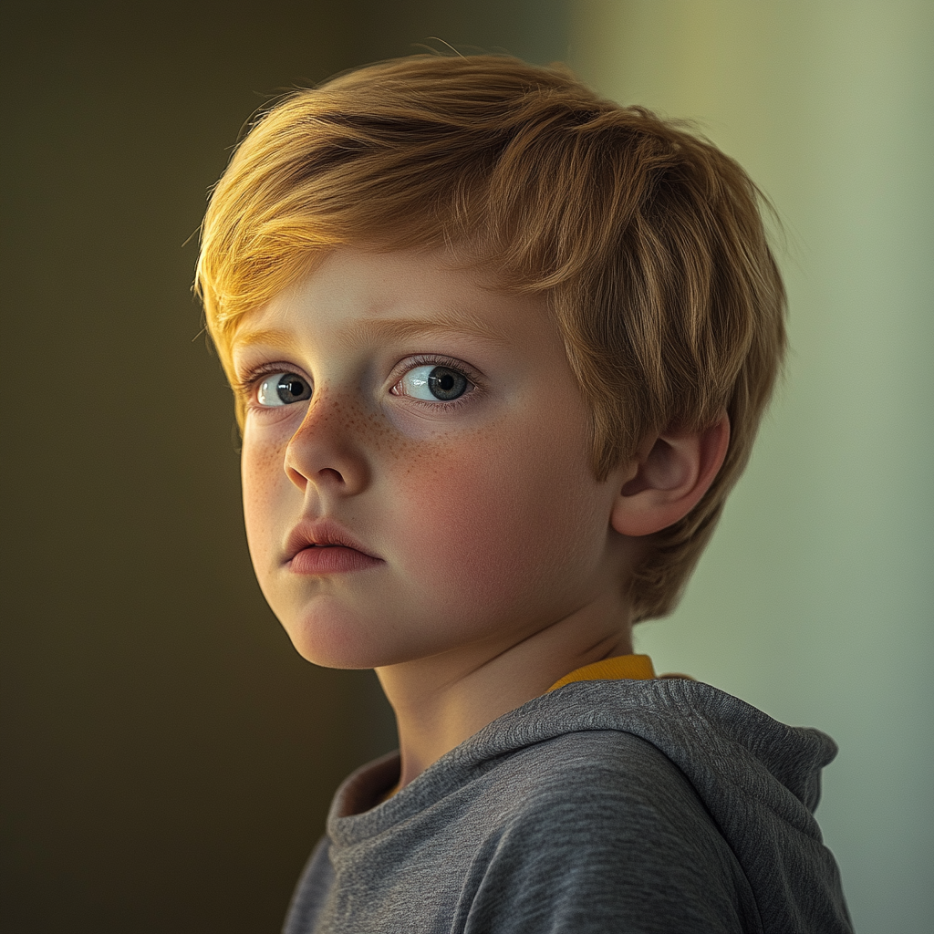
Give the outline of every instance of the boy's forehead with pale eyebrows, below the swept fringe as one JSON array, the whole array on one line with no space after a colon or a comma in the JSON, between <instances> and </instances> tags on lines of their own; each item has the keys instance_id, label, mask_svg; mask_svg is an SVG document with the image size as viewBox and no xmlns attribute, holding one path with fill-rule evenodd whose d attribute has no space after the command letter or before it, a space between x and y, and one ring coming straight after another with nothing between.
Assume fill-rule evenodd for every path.
<instances>
[{"instance_id":1,"label":"boy's forehead with pale eyebrows, below the swept fringe","mask_svg":"<svg viewBox=\"0 0 934 934\"><path fill-rule=\"evenodd\" d=\"M465 266L446 250L333 250L303 279L248 313L233 335L246 348L291 344L314 332L340 346L373 338L461 333L498 345L546 331L541 295L507 292L488 270Z\"/></svg>"}]
</instances>

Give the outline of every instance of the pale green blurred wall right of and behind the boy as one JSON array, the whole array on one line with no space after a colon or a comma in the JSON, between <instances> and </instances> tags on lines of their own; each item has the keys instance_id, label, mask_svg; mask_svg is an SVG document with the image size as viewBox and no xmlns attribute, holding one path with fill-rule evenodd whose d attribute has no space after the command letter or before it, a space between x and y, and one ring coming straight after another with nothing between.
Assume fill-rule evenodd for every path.
<instances>
[{"instance_id":1,"label":"pale green blurred wall right of and behind the boy","mask_svg":"<svg viewBox=\"0 0 934 934\"><path fill-rule=\"evenodd\" d=\"M818 817L861 934L934 930L930 0L577 0L571 64L700 120L785 223L792 355L660 670L841 745Z\"/></svg>"}]
</instances>

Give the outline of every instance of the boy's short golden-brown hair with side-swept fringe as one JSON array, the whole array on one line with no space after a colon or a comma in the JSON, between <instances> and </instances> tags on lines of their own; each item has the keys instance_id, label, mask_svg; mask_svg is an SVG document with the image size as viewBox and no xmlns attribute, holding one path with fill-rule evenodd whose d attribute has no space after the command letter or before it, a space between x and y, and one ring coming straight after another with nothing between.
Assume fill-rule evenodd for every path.
<instances>
[{"instance_id":1,"label":"boy's short golden-brown hair with side-swept fringe","mask_svg":"<svg viewBox=\"0 0 934 934\"><path fill-rule=\"evenodd\" d=\"M785 350L785 291L739 164L563 67L412 56L290 94L233 155L196 287L228 374L244 314L340 245L446 245L541 292L591 412L600 479L661 430L726 410L727 459L630 581L670 613L749 458ZM238 418L242 424L242 411Z\"/></svg>"}]
</instances>

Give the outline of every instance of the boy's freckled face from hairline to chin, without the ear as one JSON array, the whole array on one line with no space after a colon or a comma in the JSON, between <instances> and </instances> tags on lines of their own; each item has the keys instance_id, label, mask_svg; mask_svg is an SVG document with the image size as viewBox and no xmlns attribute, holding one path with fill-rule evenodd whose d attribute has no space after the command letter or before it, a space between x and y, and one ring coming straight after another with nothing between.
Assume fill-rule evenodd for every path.
<instances>
[{"instance_id":1,"label":"boy's freckled face from hairline to chin, without the ear","mask_svg":"<svg viewBox=\"0 0 934 934\"><path fill-rule=\"evenodd\" d=\"M489 655L616 600L618 485L559 332L485 285L445 252L339 248L234 339L250 554L310 661ZM309 545L323 523L359 549Z\"/></svg>"}]
</instances>

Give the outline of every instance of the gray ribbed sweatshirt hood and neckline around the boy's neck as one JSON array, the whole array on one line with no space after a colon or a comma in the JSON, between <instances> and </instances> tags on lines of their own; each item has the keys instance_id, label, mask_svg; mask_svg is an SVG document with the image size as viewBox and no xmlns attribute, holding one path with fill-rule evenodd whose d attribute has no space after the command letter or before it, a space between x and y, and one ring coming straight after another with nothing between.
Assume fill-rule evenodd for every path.
<instances>
[{"instance_id":1,"label":"gray ribbed sweatshirt hood and neckline around the boy's neck","mask_svg":"<svg viewBox=\"0 0 934 934\"><path fill-rule=\"evenodd\" d=\"M399 775L399 754L350 775L333 800L335 842L366 836L372 822L415 813L491 763L565 733L620 730L655 745L685 773L726 831L737 807L768 807L791 827L816 831L821 769L837 745L817 729L788 727L724 691L686 679L581 681L502 715L438 759L382 804ZM742 826L736 832L742 835Z\"/></svg>"}]
</instances>

